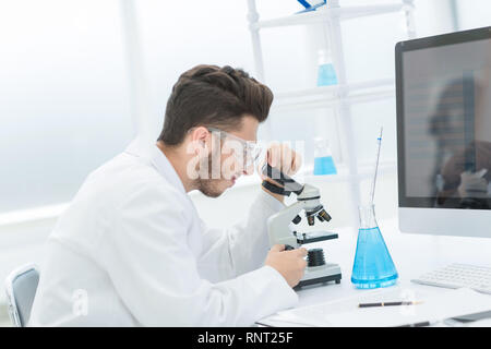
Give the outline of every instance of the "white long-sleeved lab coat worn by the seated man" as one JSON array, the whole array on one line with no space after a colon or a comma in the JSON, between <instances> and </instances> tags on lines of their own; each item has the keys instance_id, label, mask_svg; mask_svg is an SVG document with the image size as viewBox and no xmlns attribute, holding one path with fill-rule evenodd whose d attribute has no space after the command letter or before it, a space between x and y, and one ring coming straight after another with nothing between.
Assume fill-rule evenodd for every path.
<instances>
[{"instance_id":1,"label":"white long-sleeved lab coat worn by the seated man","mask_svg":"<svg viewBox=\"0 0 491 349\"><path fill-rule=\"evenodd\" d=\"M282 207L260 191L243 222L207 229L165 155L133 142L58 220L29 326L248 326L294 306L264 266L266 219Z\"/></svg>"}]
</instances>

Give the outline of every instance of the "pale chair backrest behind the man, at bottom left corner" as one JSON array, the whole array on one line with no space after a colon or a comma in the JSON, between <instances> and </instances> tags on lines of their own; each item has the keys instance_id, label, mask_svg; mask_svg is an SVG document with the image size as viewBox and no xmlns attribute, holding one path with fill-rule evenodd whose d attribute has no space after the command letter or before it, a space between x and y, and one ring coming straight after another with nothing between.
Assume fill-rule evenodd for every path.
<instances>
[{"instance_id":1,"label":"pale chair backrest behind the man, at bottom left corner","mask_svg":"<svg viewBox=\"0 0 491 349\"><path fill-rule=\"evenodd\" d=\"M38 282L39 269L35 264L23 265L7 277L7 302L10 320L14 326L27 325Z\"/></svg>"}]
</instances>

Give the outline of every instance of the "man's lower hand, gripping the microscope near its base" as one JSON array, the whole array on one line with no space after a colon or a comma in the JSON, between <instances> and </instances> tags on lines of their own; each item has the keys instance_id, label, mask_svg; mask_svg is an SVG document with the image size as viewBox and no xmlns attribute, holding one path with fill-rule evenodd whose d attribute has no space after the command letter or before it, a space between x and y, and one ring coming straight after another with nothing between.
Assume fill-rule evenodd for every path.
<instances>
[{"instance_id":1,"label":"man's lower hand, gripping the microscope near its base","mask_svg":"<svg viewBox=\"0 0 491 349\"><path fill-rule=\"evenodd\" d=\"M306 255L304 248L285 251L284 244L275 244L267 253L264 264L275 268L290 287L295 287L306 272Z\"/></svg>"}]
</instances>

